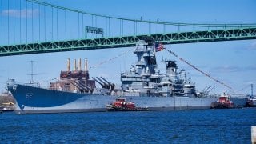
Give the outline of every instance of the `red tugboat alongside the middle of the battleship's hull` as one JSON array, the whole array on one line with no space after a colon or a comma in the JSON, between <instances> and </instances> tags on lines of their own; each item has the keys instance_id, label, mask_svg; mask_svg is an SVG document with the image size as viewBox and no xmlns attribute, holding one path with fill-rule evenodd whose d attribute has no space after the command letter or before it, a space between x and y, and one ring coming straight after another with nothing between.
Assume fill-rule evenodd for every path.
<instances>
[{"instance_id":1,"label":"red tugboat alongside the middle of the battleship's hull","mask_svg":"<svg viewBox=\"0 0 256 144\"><path fill-rule=\"evenodd\" d=\"M147 111L147 107L136 107L134 102L126 102L126 98L117 98L106 106L108 111Z\"/></svg>"}]
</instances>

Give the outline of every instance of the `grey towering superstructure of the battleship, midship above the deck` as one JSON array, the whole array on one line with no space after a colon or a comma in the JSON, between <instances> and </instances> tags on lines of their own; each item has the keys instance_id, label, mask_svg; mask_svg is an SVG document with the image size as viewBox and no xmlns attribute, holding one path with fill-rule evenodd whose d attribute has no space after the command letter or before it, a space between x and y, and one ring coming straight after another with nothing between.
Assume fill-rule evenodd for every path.
<instances>
[{"instance_id":1,"label":"grey towering superstructure of the battleship, midship above the deck","mask_svg":"<svg viewBox=\"0 0 256 144\"><path fill-rule=\"evenodd\" d=\"M121 74L124 95L196 96L195 86L187 79L180 77L175 61L162 61L166 63L166 74L160 74L157 70L153 43L139 42L134 54L137 54L138 61L129 72Z\"/></svg>"}]
</instances>

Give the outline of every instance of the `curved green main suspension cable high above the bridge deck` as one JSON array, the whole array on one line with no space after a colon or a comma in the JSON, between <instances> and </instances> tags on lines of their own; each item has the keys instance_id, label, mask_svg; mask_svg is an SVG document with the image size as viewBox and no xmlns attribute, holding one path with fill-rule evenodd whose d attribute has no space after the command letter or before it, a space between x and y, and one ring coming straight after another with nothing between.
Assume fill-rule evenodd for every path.
<instances>
[{"instance_id":1,"label":"curved green main suspension cable high above the bridge deck","mask_svg":"<svg viewBox=\"0 0 256 144\"><path fill-rule=\"evenodd\" d=\"M244 23L244 24L238 24L238 23L231 23L231 24L223 24L223 23L215 23L215 24L209 24L209 23L184 23L184 22L161 22L158 20L156 21L150 21L150 20L144 20L142 18L140 19L131 19L131 18L120 18L120 17L114 17L104 14L93 14L82 10L74 10L63 6L57 6L54 4L50 4L48 2L42 2L39 0L26 0L28 2L34 2L38 3L43 6L49 6L52 8L60 9L60 10L68 10L75 13L81 13L81 14L87 14L91 15L92 17L101 17L101 18L112 18L112 19L118 19L123 21L130 21L130 22L143 22L143 23L151 23L151 24L162 24L162 25L171 25L171 26L190 26L190 27L221 27L221 28L239 28L239 27L254 27L256 26L256 23ZM95 21L96 22L96 21Z\"/></svg>"}]
</instances>

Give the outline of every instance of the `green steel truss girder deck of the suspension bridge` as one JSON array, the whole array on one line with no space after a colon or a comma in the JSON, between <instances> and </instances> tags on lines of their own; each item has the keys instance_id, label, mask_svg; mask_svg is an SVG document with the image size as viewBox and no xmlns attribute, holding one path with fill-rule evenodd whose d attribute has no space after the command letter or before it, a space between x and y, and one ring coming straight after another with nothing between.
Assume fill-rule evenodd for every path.
<instances>
[{"instance_id":1,"label":"green steel truss girder deck of the suspension bridge","mask_svg":"<svg viewBox=\"0 0 256 144\"><path fill-rule=\"evenodd\" d=\"M28 43L14 46L0 46L0 57L22 54L40 54L73 50L98 50L135 46L136 42L150 38L163 44L218 42L256 39L256 27L229 30L205 30L169 34L145 34L113 38L79 39L59 42Z\"/></svg>"}]
</instances>

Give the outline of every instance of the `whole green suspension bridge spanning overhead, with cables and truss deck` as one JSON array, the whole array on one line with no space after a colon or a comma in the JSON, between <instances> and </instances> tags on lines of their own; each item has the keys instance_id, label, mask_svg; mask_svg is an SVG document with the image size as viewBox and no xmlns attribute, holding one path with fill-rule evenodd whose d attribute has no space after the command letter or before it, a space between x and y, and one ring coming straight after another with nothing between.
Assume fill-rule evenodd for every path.
<instances>
[{"instance_id":1,"label":"whole green suspension bridge spanning overhead, with cables and truss deck","mask_svg":"<svg viewBox=\"0 0 256 144\"><path fill-rule=\"evenodd\" d=\"M91 14L38 0L0 0L0 57L163 44L256 39L256 23L195 24Z\"/></svg>"}]
</instances>

